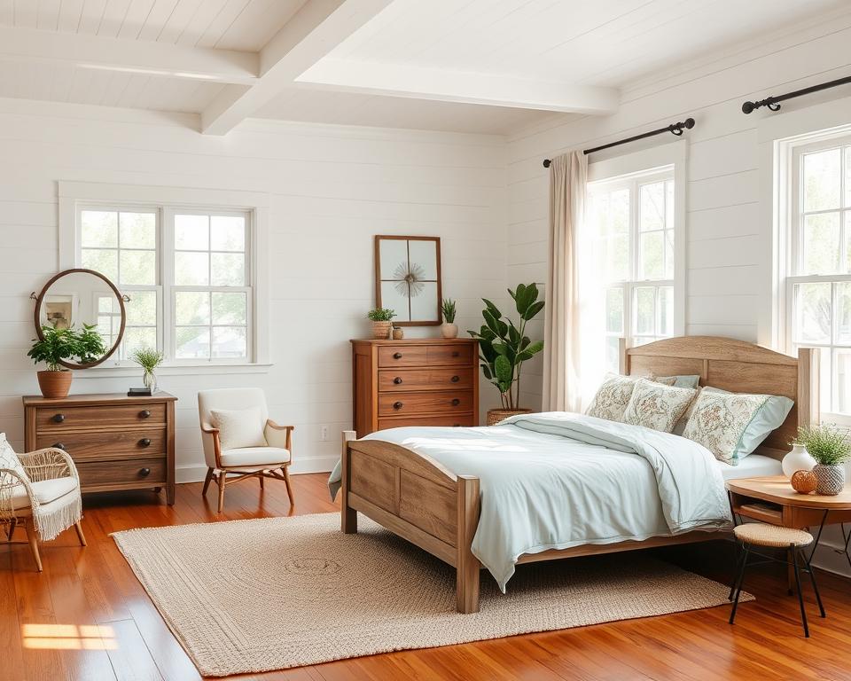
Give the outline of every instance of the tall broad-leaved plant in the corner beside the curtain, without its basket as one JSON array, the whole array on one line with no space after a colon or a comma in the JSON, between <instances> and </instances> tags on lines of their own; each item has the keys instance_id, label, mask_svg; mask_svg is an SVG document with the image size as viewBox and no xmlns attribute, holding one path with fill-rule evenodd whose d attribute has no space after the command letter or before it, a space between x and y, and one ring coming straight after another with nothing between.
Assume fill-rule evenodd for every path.
<instances>
[{"instance_id":1,"label":"tall broad-leaved plant in the corner beside the curtain, without its basket","mask_svg":"<svg viewBox=\"0 0 851 681\"><path fill-rule=\"evenodd\" d=\"M526 335L526 325L543 309L538 300L535 284L518 284L514 291L508 289L519 315L518 325L488 301L481 311L485 323L478 332L468 331L479 341L481 371L496 386L504 409L518 409L520 401L520 372L523 363L543 350L543 340L534 343Z\"/></svg>"}]
</instances>

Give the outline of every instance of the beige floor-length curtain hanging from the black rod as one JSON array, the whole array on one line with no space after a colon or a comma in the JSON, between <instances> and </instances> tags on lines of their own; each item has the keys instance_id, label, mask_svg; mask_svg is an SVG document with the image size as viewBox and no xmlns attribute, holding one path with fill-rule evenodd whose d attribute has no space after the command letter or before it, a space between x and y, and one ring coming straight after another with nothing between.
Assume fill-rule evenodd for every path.
<instances>
[{"instance_id":1,"label":"beige floor-length curtain hanging from the black rod","mask_svg":"<svg viewBox=\"0 0 851 681\"><path fill-rule=\"evenodd\" d=\"M543 410L582 411L589 375L599 373L603 333L598 287L589 286L593 253L583 238L588 158L582 152L550 163L550 266L543 349ZM583 249L582 246L585 246ZM584 286L581 283L584 282ZM589 314L592 312L593 314ZM599 335L597 335L597 331ZM596 336L596 342L589 342ZM583 342L583 338L585 341Z\"/></svg>"}]
</instances>

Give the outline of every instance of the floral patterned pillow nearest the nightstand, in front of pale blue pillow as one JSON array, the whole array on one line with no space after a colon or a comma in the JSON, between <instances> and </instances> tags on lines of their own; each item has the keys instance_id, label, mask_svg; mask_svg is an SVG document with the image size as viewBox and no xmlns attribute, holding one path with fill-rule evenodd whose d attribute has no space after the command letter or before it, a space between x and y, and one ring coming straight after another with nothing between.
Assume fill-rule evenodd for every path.
<instances>
[{"instance_id":1,"label":"floral patterned pillow nearest the nightstand, in front of pale blue pillow","mask_svg":"<svg viewBox=\"0 0 851 681\"><path fill-rule=\"evenodd\" d=\"M736 452L746 429L767 400L768 395L720 393L705 387L683 437L702 444L719 461L736 466Z\"/></svg>"}]
</instances>

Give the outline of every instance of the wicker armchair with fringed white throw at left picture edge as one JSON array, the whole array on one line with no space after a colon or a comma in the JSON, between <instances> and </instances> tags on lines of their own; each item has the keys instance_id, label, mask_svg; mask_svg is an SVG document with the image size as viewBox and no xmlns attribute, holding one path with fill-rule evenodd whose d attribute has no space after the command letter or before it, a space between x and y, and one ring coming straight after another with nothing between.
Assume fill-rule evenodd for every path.
<instances>
[{"instance_id":1,"label":"wicker armchair with fringed white throw at left picture edge","mask_svg":"<svg viewBox=\"0 0 851 681\"><path fill-rule=\"evenodd\" d=\"M50 541L74 525L82 546L82 497L74 461L55 448L16 454L0 433L0 523L7 543L23 527L35 567L42 571L38 541Z\"/></svg>"}]
</instances>

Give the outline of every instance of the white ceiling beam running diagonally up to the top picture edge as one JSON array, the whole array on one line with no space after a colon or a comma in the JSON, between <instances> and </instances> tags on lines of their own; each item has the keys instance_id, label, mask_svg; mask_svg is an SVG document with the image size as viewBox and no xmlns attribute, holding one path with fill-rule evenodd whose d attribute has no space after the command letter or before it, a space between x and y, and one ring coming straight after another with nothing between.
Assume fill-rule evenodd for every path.
<instances>
[{"instance_id":1,"label":"white ceiling beam running diagonally up to the top picture edge","mask_svg":"<svg viewBox=\"0 0 851 681\"><path fill-rule=\"evenodd\" d=\"M260 53L260 78L230 85L201 113L201 131L224 135L276 98L392 0L308 0Z\"/></svg>"}]
</instances>

